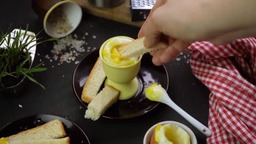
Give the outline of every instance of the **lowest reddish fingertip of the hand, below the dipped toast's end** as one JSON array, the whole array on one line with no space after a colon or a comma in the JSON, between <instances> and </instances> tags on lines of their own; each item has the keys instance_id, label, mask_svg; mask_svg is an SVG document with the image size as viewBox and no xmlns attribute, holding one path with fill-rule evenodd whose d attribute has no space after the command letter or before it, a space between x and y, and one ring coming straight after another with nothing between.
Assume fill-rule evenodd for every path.
<instances>
[{"instance_id":1,"label":"lowest reddish fingertip of the hand, below the dipped toast's end","mask_svg":"<svg viewBox=\"0 0 256 144\"><path fill-rule=\"evenodd\" d=\"M168 48L166 48L165 51L163 51L162 55L159 57L160 63L165 64L175 59L179 53L184 51L188 46L189 43L183 40L176 40Z\"/></svg>"}]
</instances>

